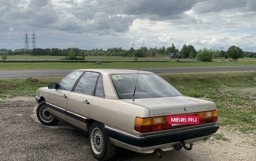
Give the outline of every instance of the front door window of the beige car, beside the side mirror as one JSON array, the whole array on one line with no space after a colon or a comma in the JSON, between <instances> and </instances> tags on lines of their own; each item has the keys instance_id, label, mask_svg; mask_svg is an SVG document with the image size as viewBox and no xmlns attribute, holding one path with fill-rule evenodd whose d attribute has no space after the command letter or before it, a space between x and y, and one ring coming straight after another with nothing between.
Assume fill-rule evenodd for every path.
<instances>
[{"instance_id":1,"label":"front door window of the beige car, beside the side mirror","mask_svg":"<svg viewBox=\"0 0 256 161\"><path fill-rule=\"evenodd\" d=\"M77 79L84 71L75 71L67 75L58 83L58 89L71 91Z\"/></svg>"}]
</instances>

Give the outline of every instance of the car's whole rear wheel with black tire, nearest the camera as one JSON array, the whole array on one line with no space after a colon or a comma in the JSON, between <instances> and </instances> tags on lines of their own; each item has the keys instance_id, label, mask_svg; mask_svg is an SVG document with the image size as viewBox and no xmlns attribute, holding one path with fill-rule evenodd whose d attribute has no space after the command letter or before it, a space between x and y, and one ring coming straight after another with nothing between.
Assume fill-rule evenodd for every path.
<instances>
[{"instance_id":1,"label":"car's whole rear wheel with black tire, nearest the camera","mask_svg":"<svg viewBox=\"0 0 256 161\"><path fill-rule=\"evenodd\" d=\"M101 123L94 122L89 132L90 150L98 160L111 159L116 153L116 146L111 143Z\"/></svg>"}]
</instances>

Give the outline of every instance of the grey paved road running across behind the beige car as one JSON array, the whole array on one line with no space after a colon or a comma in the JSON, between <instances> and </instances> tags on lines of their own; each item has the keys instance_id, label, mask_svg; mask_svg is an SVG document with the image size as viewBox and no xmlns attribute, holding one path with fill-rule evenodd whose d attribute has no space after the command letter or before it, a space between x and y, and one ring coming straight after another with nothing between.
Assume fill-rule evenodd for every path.
<instances>
[{"instance_id":1,"label":"grey paved road running across behind the beige car","mask_svg":"<svg viewBox=\"0 0 256 161\"><path fill-rule=\"evenodd\" d=\"M256 71L256 66L222 66L222 67L172 67L172 68L141 68L140 70L154 73L177 72L216 72L216 71ZM33 76L65 76L72 70L16 70L1 71L0 79L33 77Z\"/></svg>"}]
</instances>

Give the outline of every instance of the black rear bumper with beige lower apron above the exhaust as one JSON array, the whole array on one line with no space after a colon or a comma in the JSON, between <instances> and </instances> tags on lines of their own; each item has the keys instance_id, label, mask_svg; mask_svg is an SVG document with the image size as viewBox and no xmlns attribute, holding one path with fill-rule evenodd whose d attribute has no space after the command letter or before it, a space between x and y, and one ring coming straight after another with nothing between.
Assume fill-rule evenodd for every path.
<instances>
[{"instance_id":1,"label":"black rear bumper with beige lower apron above the exhaust","mask_svg":"<svg viewBox=\"0 0 256 161\"><path fill-rule=\"evenodd\" d=\"M209 139L218 128L218 125L211 125L167 134L137 137L105 126L105 130L114 145L139 153L152 153L155 149L172 150L175 145L181 144L181 141L185 141L186 144L191 142L198 144Z\"/></svg>"}]
</instances>

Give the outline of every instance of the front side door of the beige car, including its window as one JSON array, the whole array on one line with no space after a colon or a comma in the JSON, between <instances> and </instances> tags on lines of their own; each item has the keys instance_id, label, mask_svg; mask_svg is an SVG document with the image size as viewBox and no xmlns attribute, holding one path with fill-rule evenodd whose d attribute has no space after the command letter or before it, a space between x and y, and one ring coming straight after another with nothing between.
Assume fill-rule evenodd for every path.
<instances>
[{"instance_id":1,"label":"front side door of the beige car, including its window","mask_svg":"<svg viewBox=\"0 0 256 161\"><path fill-rule=\"evenodd\" d=\"M70 95L76 81L84 71L74 71L69 73L57 84L57 89L52 89L51 96L47 100L49 111L60 118L65 117L68 95Z\"/></svg>"}]
</instances>

